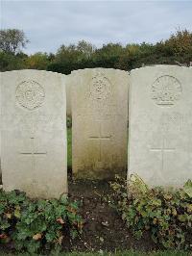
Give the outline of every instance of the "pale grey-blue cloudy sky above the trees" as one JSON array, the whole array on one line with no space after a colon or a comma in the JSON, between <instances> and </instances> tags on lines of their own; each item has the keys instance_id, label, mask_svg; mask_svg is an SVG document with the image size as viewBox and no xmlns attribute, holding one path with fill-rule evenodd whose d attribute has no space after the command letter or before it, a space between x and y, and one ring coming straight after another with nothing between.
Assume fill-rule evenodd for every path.
<instances>
[{"instance_id":1,"label":"pale grey-blue cloudy sky above the trees","mask_svg":"<svg viewBox=\"0 0 192 256\"><path fill-rule=\"evenodd\" d=\"M30 40L27 54L55 53L61 44L82 39L102 47L154 43L178 28L192 31L192 0L0 1L1 29L23 30Z\"/></svg>"}]
</instances>

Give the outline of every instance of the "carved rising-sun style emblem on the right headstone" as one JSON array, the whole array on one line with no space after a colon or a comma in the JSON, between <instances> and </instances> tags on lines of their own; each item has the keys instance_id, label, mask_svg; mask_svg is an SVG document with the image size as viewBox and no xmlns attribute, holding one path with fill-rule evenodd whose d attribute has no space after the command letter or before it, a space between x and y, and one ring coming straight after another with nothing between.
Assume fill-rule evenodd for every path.
<instances>
[{"instance_id":1,"label":"carved rising-sun style emblem on the right headstone","mask_svg":"<svg viewBox=\"0 0 192 256\"><path fill-rule=\"evenodd\" d=\"M180 100L181 92L180 81L173 76L161 76L152 85L152 99L161 106L174 105Z\"/></svg>"}]
</instances>

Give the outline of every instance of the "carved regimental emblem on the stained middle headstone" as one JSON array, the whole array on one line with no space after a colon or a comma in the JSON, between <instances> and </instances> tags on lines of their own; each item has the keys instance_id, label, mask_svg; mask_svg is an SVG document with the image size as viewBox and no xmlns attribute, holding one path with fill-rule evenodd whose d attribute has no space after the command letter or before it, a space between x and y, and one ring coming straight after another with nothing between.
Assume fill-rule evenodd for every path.
<instances>
[{"instance_id":1,"label":"carved regimental emblem on the stained middle headstone","mask_svg":"<svg viewBox=\"0 0 192 256\"><path fill-rule=\"evenodd\" d=\"M90 97L94 100L105 100L111 94L111 84L102 72L97 72L90 83Z\"/></svg>"}]
</instances>

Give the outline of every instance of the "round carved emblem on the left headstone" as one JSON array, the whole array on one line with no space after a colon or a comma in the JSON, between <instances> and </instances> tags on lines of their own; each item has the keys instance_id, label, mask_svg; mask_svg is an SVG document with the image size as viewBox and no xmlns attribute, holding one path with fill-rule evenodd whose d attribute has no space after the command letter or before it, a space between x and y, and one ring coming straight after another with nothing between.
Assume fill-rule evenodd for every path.
<instances>
[{"instance_id":1,"label":"round carved emblem on the left headstone","mask_svg":"<svg viewBox=\"0 0 192 256\"><path fill-rule=\"evenodd\" d=\"M24 81L17 86L16 101L28 110L35 110L44 102L45 92L36 81Z\"/></svg>"}]
</instances>

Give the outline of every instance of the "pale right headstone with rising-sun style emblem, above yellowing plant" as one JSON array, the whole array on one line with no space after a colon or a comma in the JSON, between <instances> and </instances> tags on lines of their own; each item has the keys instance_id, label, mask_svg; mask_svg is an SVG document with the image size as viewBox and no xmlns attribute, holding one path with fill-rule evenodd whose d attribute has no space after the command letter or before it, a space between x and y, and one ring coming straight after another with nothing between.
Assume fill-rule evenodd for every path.
<instances>
[{"instance_id":1,"label":"pale right headstone with rising-sun style emblem, above yellowing plant","mask_svg":"<svg viewBox=\"0 0 192 256\"><path fill-rule=\"evenodd\" d=\"M179 187L192 178L192 69L144 67L131 80L129 176Z\"/></svg>"}]
</instances>

